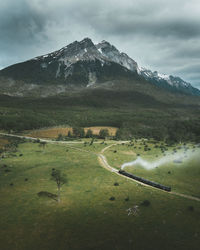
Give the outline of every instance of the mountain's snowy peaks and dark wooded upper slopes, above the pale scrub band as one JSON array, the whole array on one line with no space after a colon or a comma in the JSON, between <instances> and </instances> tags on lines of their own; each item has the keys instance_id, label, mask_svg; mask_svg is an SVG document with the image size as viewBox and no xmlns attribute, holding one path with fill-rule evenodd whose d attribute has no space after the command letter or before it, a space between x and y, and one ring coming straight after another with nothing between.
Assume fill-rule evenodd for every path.
<instances>
[{"instance_id":1,"label":"mountain's snowy peaks and dark wooded upper slopes, above the pale scrub band","mask_svg":"<svg viewBox=\"0 0 200 250\"><path fill-rule=\"evenodd\" d=\"M13 79L28 79L34 84L58 82L83 86L123 77L134 80L134 77L140 75L159 87L200 95L198 89L180 77L138 67L136 61L109 42L103 40L94 44L88 37L80 42L74 41L60 50L3 69L1 75Z\"/></svg>"}]
</instances>

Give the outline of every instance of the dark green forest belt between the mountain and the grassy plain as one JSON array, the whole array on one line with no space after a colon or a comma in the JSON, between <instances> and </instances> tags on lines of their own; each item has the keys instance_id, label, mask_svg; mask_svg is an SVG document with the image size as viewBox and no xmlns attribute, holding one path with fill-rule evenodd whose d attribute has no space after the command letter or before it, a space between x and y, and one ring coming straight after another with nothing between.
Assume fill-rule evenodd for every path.
<instances>
[{"instance_id":1,"label":"dark green forest belt between the mountain and the grassy plain","mask_svg":"<svg viewBox=\"0 0 200 250\"><path fill-rule=\"evenodd\" d=\"M115 89L98 88L65 96L1 96L0 129L22 132L62 126L59 132L57 128L43 132L42 136L55 138L58 134L72 133L71 128L85 128L85 134L90 128L95 135L99 134L97 127L108 126L118 128L117 132L111 129L109 134L116 133L116 138L122 140L153 137L168 143L200 141L198 97L162 92L150 84L140 88L137 84L127 83L126 87L126 82L119 82Z\"/></svg>"}]
</instances>

